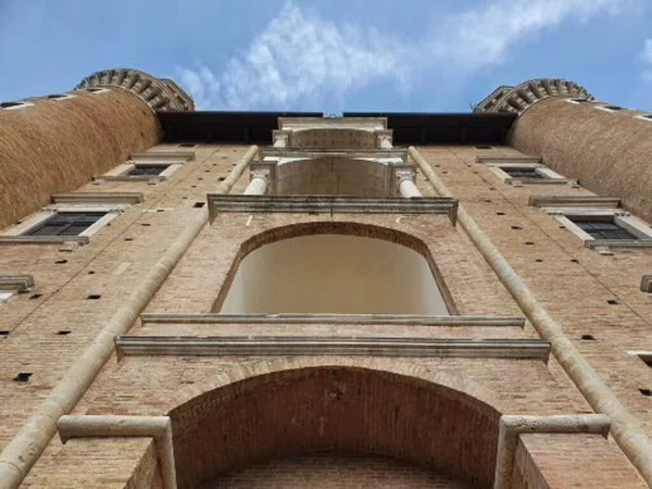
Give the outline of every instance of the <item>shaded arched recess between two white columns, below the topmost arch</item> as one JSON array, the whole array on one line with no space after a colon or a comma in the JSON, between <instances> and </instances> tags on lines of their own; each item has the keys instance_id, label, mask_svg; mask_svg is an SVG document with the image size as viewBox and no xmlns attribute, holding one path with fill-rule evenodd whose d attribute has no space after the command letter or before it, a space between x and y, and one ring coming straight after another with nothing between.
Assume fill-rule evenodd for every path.
<instances>
[{"instance_id":1,"label":"shaded arched recess between two white columns, below the topmost arch","mask_svg":"<svg viewBox=\"0 0 652 489\"><path fill-rule=\"evenodd\" d=\"M276 172L275 191L285 196L390 197L398 188L392 186L391 166L371 158L297 159L278 164Z\"/></svg>"}]
</instances>

